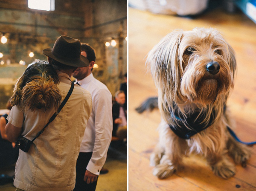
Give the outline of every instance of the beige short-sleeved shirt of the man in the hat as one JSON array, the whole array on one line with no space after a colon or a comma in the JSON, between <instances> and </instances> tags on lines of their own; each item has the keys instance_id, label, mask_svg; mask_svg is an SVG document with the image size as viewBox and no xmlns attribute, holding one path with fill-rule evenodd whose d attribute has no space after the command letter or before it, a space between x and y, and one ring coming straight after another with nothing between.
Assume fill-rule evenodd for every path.
<instances>
[{"instance_id":1,"label":"beige short-sleeved shirt of the man in the hat","mask_svg":"<svg viewBox=\"0 0 256 191\"><path fill-rule=\"evenodd\" d=\"M71 80L58 73L62 100L70 90ZM28 153L19 151L14 185L26 191L71 191L75 188L76 159L87 119L92 110L90 93L75 84L74 90L56 118L35 139ZM53 109L28 110L12 107L9 122L23 128L22 136L32 140L47 124Z\"/></svg>"}]
</instances>

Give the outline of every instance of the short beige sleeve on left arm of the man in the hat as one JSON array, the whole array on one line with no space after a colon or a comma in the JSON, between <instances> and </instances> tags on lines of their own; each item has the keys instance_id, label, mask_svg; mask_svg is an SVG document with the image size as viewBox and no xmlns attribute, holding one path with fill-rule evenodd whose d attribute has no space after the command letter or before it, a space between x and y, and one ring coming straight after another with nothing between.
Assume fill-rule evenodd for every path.
<instances>
[{"instance_id":1,"label":"short beige sleeve on left arm of the man in the hat","mask_svg":"<svg viewBox=\"0 0 256 191\"><path fill-rule=\"evenodd\" d=\"M15 127L23 127L24 121L24 114L23 111L20 109L20 106L13 106L7 120L10 124L14 125Z\"/></svg>"}]
</instances>

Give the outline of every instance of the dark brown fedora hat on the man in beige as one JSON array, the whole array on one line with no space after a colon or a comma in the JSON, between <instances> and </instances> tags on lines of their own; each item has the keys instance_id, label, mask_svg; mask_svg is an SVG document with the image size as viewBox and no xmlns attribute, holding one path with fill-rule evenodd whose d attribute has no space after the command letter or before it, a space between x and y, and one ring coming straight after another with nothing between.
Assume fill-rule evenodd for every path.
<instances>
[{"instance_id":1,"label":"dark brown fedora hat on the man in beige","mask_svg":"<svg viewBox=\"0 0 256 191\"><path fill-rule=\"evenodd\" d=\"M68 66L87 67L89 61L81 55L81 43L79 40L60 36L55 41L53 48L43 50L44 55Z\"/></svg>"}]
</instances>

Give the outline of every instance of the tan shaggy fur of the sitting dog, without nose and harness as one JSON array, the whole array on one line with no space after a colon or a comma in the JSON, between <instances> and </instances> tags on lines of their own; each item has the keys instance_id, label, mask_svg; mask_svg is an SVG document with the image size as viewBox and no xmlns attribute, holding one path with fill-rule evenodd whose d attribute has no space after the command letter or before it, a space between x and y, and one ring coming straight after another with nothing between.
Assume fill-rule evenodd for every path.
<instances>
[{"instance_id":1,"label":"tan shaggy fur of the sitting dog, without nose and harness","mask_svg":"<svg viewBox=\"0 0 256 191\"><path fill-rule=\"evenodd\" d=\"M212 61L220 65L215 75L206 69ZM230 112L224 112L227 97L234 87L233 48L215 29L176 30L148 53L147 65L158 88L162 116L159 142L151 155L153 174L161 179L171 176L182 165L182 157L193 152L202 154L219 177L232 177L236 168L227 154L236 163L244 163L250 157L249 148L236 142L227 132L227 126L233 127ZM179 138L169 127L176 124L171 113L178 111L186 118L195 110L205 114L205 123L214 113L214 122L190 139Z\"/></svg>"}]
</instances>

